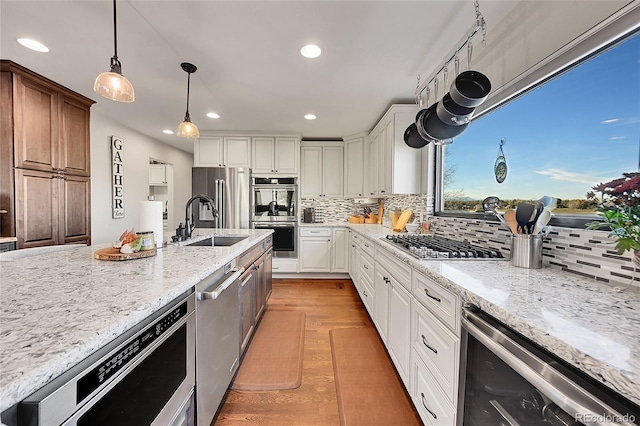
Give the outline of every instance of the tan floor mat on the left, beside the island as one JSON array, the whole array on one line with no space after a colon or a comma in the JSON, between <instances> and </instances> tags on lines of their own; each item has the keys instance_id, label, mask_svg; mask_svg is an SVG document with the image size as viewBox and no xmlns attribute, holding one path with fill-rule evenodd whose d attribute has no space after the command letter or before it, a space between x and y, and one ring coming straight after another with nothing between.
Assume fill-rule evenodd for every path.
<instances>
[{"instance_id":1,"label":"tan floor mat on the left, beside the island","mask_svg":"<svg viewBox=\"0 0 640 426\"><path fill-rule=\"evenodd\" d=\"M294 310L265 312L231 389L295 389L302 383L305 314Z\"/></svg>"}]
</instances>

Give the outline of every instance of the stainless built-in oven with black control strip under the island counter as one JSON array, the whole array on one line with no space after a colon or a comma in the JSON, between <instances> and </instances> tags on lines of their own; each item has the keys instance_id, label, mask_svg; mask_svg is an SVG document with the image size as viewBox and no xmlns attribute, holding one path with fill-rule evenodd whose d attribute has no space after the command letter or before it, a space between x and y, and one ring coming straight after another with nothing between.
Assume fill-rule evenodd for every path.
<instances>
[{"instance_id":1,"label":"stainless built-in oven with black control strip under the island counter","mask_svg":"<svg viewBox=\"0 0 640 426\"><path fill-rule=\"evenodd\" d=\"M18 424L193 425L195 296L153 315L18 407Z\"/></svg>"}]
</instances>

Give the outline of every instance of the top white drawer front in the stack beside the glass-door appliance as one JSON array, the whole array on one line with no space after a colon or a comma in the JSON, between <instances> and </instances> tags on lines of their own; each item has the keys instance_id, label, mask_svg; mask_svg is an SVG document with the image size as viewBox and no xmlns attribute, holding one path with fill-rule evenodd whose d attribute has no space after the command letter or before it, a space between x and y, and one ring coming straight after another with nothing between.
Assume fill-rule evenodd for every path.
<instances>
[{"instance_id":1,"label":"top white drawer front in the stack beside the glass-door appliance","mask_svg":"<svg viewBox=\"0 0 640 426\"><path fill-rule=\"evenodd\" d=\"M419 272L413 273L413 295L425 308L460 336L460 299Z\"/></svg>"}]
</instances>

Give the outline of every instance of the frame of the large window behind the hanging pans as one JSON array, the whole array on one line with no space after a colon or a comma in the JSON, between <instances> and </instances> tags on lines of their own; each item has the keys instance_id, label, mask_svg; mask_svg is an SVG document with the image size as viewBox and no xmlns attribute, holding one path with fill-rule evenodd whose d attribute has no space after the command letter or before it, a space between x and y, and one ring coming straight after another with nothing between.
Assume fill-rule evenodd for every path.
<instances>
[{"instance_id":1,"label":"frame of the large window behind the hanging pans","mask_svg":"<svg viewBox=\"0 0 640 426\"><path fill-rule=\"evenodd\" d=\"M640 7L632 4L623 8L617 14L601 22L581 37L568 43L555 54L522 73L508 86L496 90L487 101L476 109L473 120L497 110L509 102L526 96L529 92L539 88L555 77L571 71L583 62L597 56L604 51L623 43L625 40L640 33ZM455 143L455 142L454 142ZM498 222L490 213L471 213L444 210L444 163L445 146L437 145L434 149L435 179L434 179L434 216L458 217L466 219L486 220ZM566 228L586 228L586 224L599 220L593 214L563 214L552 216L549 224Z\"/></svg>"}]
</instances>

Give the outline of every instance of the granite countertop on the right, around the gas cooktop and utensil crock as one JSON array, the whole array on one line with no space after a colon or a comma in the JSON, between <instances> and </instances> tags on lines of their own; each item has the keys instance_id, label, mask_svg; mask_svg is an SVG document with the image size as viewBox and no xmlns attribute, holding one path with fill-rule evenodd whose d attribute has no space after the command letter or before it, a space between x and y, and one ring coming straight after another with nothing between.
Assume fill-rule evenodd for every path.
<instances>
[{"instance_id":1,"label":"granite countertop on the right, around the gas cooktop and utensil crock","mask_svg":"<svg viewBox=\"0 0 640 426\"><path fill-rule=\"evenodd\" d=\"M597 381L640 404L640 294L616 292L557 269L508 261L418 260L381 238L380 225L348 225Z\"/></svg>"}]
</instances>

